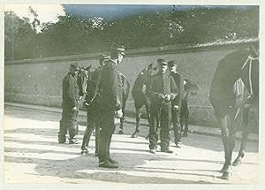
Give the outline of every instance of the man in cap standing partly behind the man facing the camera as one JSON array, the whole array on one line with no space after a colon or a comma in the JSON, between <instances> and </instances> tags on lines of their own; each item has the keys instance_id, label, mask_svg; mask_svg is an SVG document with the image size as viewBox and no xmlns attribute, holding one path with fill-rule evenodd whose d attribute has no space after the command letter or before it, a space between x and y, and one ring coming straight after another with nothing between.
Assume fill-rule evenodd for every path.
<instances>
[{"instance_id":1,"label":"man in cap standing partly behind the man facing the camera","mask_svg":"<svg viewBox=\"0 0 265 190\"><path fill-rule=\"evenodd\" d=\"M173 131L175 135L175 144L178 148L180 148L181 143L181 127L179 122L179 112L181 106L181 100L184 95L184 81L182 76L177 72L177 63L173 60L168 63L170 68L170 75L173 77L177 87L178 87L178 95L172 101L172 123L173 123Z\"/></svg>"}]
</instances>

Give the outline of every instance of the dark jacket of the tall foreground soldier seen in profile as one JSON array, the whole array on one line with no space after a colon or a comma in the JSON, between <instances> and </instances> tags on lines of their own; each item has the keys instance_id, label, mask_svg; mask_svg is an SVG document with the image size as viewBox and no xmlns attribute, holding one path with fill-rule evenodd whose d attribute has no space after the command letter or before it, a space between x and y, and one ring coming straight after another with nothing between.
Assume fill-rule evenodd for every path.
<instances>
[{"instance_id":1,"label":"dark jacket of the tall foreground soldier seen in profile","mask_svg":"<svg viewBox=\"0 0 265 190\"><path fill-rule=\"evenodd\" d=\"M100 110L120 110L122 108L122 80L113 60L109 59L104 62L98 87Z\"/></svg>"}]
</instances>

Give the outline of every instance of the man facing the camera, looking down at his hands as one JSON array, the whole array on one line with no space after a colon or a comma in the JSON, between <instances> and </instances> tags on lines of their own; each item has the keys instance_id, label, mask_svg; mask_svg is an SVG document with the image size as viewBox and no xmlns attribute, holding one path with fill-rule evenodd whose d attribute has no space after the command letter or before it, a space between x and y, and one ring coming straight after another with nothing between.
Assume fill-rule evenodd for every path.
<instances>
[{"instance_id":1,"label":"man facing the camera, looking down at his hands","mask_svg":"<svg viewBox=\"0 0 265 190\"><path fill-rule=\"evenodd\" d=\"M157 59L159 72L150 79L147 95L150 98L149 148L155 154L158 141L157 123L160 124L161 151L172 153L170 146L171 101L178 95L178 87L167 72L168 63Z\"/></svg>"}]
</instances>

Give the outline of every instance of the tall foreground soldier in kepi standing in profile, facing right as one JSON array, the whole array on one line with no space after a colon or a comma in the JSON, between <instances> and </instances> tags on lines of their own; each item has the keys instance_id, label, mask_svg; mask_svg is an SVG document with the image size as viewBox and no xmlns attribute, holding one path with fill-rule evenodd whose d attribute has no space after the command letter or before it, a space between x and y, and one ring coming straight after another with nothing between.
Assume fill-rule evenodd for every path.
<instances>
[{"instance_id":1,"label":"tall foreground soldier in kepi standing in profile, facing right","mask_svg":"<svg viewBox=\"0 0 265 190\"><path fill-rule=\"evenodd\" d=\"M124 46L111 49L110 59L102 66L98 101L99 126L99 167L117 168L117 161L110 157L110 141L115 131L115 117L122 115L122 81L117 68L124 57Z\"/></svg>"}]
</instances>

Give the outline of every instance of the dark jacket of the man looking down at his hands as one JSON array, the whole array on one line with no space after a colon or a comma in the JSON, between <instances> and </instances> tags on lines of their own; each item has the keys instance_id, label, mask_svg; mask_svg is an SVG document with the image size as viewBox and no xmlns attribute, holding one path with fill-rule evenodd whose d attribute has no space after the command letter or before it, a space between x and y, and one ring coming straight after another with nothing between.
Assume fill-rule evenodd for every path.
<instances>
[{"instance_id":1,"label":"dark jacket of the man looking down at his hands","mask_svg":"<svg viewBox=\"0 0 265 190\"><path fill-rule=\"evenodd\" d=\"M170 76L168 72L158 72L150 78L147 88L147 95L150 97L151 103L163 103L163 98L161 98L159 94L170 95L170 100L173 100L178 95L178 87L176 86L173 77Z\"/></svg>"}]
</instances>

